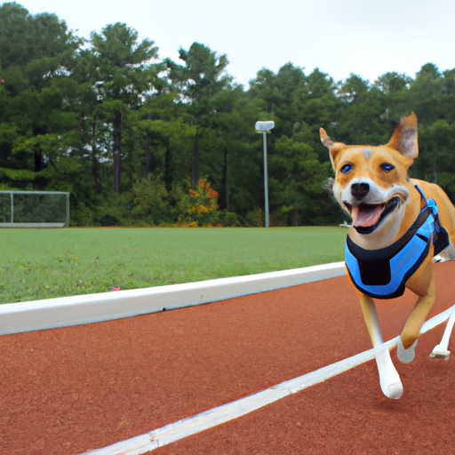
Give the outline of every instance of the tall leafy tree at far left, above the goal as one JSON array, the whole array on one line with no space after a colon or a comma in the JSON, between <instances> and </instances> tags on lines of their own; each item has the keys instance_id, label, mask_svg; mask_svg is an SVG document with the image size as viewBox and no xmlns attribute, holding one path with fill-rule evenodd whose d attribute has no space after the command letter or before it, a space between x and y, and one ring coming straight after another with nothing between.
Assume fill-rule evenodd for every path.
<instances>
[{"instance_id":1,"label":"tall leafy tree at far left, above the goal","mask_svg":"<svg viewBox=\"0 0 455 455\"><path fill-rule=\"evenodd\" d=\"M76 124L64 98L80 44L53 14L31 15L19 4L0 7L4 183L44 188L55 177L49 166L68 152Z\"/></svg>"}]
</instances>

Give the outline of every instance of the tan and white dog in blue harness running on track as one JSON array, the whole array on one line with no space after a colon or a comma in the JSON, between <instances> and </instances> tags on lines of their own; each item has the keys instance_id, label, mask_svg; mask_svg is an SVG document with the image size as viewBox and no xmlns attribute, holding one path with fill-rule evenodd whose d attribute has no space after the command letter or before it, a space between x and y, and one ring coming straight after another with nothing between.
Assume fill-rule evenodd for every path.
<instances>
[{"instance_id":1,"label":"tan and white dog in blue harness running on track","mask_svg":"<svg viewBox=\"0 0 455 455\"><path fill-rule=\"evenodd\" d=\"M323 128L320 138L335 172L333 196L352 218L345 245L347 277L360 298L382 392L398 399L403 384L388 349L380 347L373 299L394 299L404 288L418 296L397 348L398 359L411 362L435 303L435 260L455 259L455 208L442 188L408 176L419 156L414 113L402 117L383 146L347 146L331 140Z\"/></svg>"}]
</instances>

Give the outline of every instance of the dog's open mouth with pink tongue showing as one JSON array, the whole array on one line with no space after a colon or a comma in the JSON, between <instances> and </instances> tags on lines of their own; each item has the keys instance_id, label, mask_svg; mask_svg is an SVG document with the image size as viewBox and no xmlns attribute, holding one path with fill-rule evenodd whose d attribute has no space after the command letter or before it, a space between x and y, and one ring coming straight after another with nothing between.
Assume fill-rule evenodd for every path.
<instances>
[{"instance_id":1,"label":"dog's open mouth with pink tongue showing","mask_svg":"<svg viewBox=\"0 0 455 455\"><path fill-rule=\"evenodd\" d=\"M352 225L359 234L371 234L378 228L387 215L395 210L400 202L398 196L392 197L383 204L358 204L345 203L352 217Z\"/></svg>"}]
</instances>

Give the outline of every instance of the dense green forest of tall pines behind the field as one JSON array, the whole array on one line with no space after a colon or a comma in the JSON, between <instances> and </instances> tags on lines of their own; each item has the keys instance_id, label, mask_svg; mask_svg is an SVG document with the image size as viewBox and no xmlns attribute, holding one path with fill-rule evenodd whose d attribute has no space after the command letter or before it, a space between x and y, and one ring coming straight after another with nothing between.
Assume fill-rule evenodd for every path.
<instances>
[{"instance_id":1,"label":"dense green forest of tall pines behind the field","mask_svg":"<svg viewBox=\"0 0 455 455\"><path fill-rule=\"evenodd\" d=\"M378 145L414 111L411 177L455 200L455 68L337 82L288 63L259 69L244 88L206 44L180 48L178 62L160 59L158 46L124 23L86 40L54 14L2 4L0 189L70 192L72 226L263 226L254 124L274 120L270 225L337 224L319 128Z\"/></svg>"}]
</instances>

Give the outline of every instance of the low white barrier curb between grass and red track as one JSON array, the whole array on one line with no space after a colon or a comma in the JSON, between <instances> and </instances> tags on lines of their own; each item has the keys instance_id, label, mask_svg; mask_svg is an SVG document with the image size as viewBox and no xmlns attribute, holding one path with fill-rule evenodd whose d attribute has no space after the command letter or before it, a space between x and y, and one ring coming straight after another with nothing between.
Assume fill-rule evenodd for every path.
<instances>
[{"instance_id":1,"label":"low white barrier curb between grass and red track","mask_svg":"<svg viewBox=\"0 0 455 455\"><path fill-rule=\"evenodd\" d=\"M334 262L196 283L7 303L0 305L0 335L98 323L163 311L164 308L190 307L345 274L344 262Z\"/></svg>"}]
</instances>

